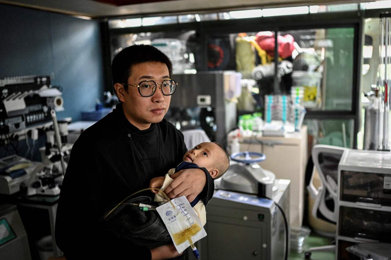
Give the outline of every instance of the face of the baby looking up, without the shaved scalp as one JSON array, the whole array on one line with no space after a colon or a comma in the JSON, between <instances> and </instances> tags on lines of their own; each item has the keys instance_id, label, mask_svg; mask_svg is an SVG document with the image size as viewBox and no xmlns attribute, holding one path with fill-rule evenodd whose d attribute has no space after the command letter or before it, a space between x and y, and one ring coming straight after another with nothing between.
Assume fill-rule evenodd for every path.
<instances>
[{"instance_id":1,"label":"face of the baby looking up, without the shaved scalp","mask_svg":"<svg viewBox=\"0 0 391 260\"><path fill-rule=\"evenodd\" d=\"M215 167L221 153L219 146L213 142L203 142L189 150L183 156L184 162L192 162L199 167Z\"/></svg>"}]
</instances>

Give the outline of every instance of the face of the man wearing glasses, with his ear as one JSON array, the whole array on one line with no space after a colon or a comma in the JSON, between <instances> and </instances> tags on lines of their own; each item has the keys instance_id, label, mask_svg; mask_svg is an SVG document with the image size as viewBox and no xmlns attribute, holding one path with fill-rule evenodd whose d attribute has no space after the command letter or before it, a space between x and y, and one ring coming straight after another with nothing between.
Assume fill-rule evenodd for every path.
<instances>
[{"instance_id":1,"label":"face of the man wearing glasses, with his ear","mask_svg":"<svg viewBox=\"0 0 391 260\"><path fill-rule=\"evenodd\" d=\"M143 80L156 78L170 78L167 65L161 62L143 62L133 65L127 82L122 83L138 85ZM155 80L156 83L161 81ZM138 87L130 85L125 91L121 89L122 84L115 84L126 118L140 130L149 128L151 123L160 122L169 109L171 96L163 95L160 86L161 84L157 85L152 96L143 97L138 92Z\"/></svg>"}]
</instances>

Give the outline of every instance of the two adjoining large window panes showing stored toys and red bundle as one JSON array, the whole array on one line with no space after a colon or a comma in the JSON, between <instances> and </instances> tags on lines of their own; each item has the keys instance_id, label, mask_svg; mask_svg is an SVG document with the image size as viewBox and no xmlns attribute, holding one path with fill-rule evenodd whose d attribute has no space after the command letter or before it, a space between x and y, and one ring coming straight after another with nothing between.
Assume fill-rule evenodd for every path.
<instances>
[{"instance_id":1,"label":"two adjoining large window panes showing stored toys and red bundle","mask_svg":"<svg viewBox=\"0 0 391 260\"><path fill-rule=\"evenodd\" d=\"M354 33L354 28L278 32L280 94L292 96L307 111L351 111ZM207 46L208 70L236 70L255 80L248 88L250 107L263 111L264 96L276 94L274 32L210 35Z\"/></svg>"}]
</instances>

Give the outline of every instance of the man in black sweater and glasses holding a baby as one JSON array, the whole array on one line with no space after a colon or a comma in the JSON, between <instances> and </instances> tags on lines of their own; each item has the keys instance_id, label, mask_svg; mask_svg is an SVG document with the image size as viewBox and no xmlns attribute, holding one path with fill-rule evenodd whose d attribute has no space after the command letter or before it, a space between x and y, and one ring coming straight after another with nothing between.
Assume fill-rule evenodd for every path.
<instances>
[{"instance_id":1,"label":"man in black sweater and glasses holding a baby","mask_svg":"<svg viewBox=\"0 0 391 260\"><path fill-rule=\"evenodd\" d=\"M153 46L133 45L113 59L112 75L121 103L73 146L57 208L57 245L67 259L176 257L173 244L136 246L100 222L107 210L178 165L187 151L181 132L163 119L177 85L170 80L172 64ZM206 204L213 181L206 169L187 169L165 192L189 201L199 195Z\"/></svg>"}]
</instances>

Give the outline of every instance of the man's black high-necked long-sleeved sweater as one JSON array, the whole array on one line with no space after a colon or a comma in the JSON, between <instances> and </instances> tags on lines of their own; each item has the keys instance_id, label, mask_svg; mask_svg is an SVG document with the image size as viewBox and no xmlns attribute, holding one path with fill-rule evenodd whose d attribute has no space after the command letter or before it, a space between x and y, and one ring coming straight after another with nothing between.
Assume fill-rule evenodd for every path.
<instances>
[{"instance_id":1,"label":"man's black high-necked long-sleeved sweater","mask_svg":"<svg viewBox=\"0 0 391 260\"><path fill-rule=\"evenodd\" d=\"M121 103L87 128L72 148L57 208L56 242L66 258L151 259L149 249L113 237L99 221L124 198L149 187L152 178L175 168L186 151L174 125L163 119L139 130ZM206 205L214 186L203 170L206 185L199 196Z\"/></svg>"}]
</instances>

